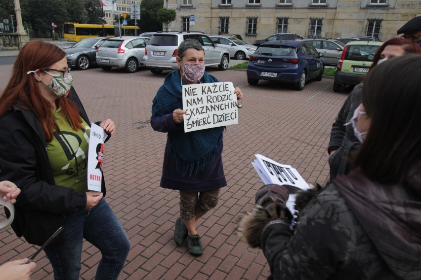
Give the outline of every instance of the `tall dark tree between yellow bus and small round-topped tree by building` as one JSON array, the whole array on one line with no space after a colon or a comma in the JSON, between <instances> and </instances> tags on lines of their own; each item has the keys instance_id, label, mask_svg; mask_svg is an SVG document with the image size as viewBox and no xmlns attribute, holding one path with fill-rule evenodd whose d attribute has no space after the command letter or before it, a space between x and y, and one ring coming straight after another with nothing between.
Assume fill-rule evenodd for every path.
<instances>
[{"instance_id":1,"label":"tall dark tree between yellow bus and small round-topped tree by building","mask_svg":"<svg viewBox=\"0 0 421 280\"><path fill-rule=\"evenodd\" d=\"M161 31L162 22L157 19L158 10L163 7L162 0L143 0L140 5L140 32Z\"/></svg>"}]
</instances>

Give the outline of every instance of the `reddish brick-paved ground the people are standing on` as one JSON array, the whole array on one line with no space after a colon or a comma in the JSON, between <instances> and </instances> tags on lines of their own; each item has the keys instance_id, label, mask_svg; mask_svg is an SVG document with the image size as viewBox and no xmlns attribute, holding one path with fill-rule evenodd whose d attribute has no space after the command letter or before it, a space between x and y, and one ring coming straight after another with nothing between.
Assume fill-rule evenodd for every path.
<instances>
[{"instance_id":1,"label":"reddish brick-paved ground the people are standing on","mask_svg":"<svg viewBox=\"0 0 421 280\"><path fill-rule=\"evenodd\" d=\"M0 66L0 90L12 66ZM73 70L74 86L91 121L111 118L117 132L104 149L106 200L123 224L131 249L121 280L263 280L270 275L261 250L249 247L236 234L239 218L254 206L262 186L251 162L260 153L290 164L308 182L324 183L329 175L326 152L332 122L347 93L334 93L333 80L308 82L303 91L291 85L260 81L247 83L244 71L209 73L232 81L244 93L239 124L224 134L224 170L228 187L222 188L217 207L199 221L204 254L189 255L186 245L172 240L179 215L178 193L159 186L167 135L152 130L151 104L165 74L149 70ZM1 211L2 212L2 211ZM4 216L3 216L4 217ZM0 232L0 263L31 255L38 246L17 238L8 228ZM95 276L99 251L84 242L81 279ZM32 280L53 279L42 252Z\"/></svg>"}]
</instances>

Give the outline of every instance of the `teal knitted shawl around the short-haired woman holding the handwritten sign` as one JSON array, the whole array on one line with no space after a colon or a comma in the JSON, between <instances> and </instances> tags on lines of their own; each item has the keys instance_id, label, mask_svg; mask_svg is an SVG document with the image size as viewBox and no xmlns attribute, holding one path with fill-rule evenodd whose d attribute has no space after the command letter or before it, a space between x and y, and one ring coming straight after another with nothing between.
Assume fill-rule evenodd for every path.
<instances>
[{"instance_id":1,"label":"teal knitted shawl around the short-haired woman holding the handwritten sign","mask_svg":"<svg viewBox=\"0 0 421 280\"><path fill-rule=\"evenodd\" d=\"M219 82L207 72L202 83ZM182 108L182 86L179 70L169 73L164 84L158 90L152 103L152 116L171 114ZM174 156L176 171L183 176L197 175L211 162L222 144L224 127L215 127L185 133L184 125L180 129L168 132L168 149Z\"/></svg>"}]
</instances>

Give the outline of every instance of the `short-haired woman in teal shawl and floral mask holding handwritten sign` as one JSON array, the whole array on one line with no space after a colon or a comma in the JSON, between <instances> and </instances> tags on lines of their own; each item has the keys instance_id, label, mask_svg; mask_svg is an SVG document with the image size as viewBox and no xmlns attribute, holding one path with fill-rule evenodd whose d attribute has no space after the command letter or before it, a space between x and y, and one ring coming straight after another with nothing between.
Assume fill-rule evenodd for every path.
<instances>
[{"instance_id":1,"label":"short-haired woman in teal shawl and floral mask holding handwritten sign","mask_svg":"<svg viewBox=\"0 0 421 280\"><path fill-rule=\"evenodd\" d=\"M174 230L178 246L187 239L193 256L203 253L195 224L218 203L220 188L226 186L222 167L222 133L214 127L186 133L183 126L182 86L219 82L205 71L205 51L199 41L186 39L178 47L178 69L167 75L152 105L151 126L168 133L161 187L180 193L180 217ZM233 94L243 98L240 88Z\"/></svg>"}]
</instances>

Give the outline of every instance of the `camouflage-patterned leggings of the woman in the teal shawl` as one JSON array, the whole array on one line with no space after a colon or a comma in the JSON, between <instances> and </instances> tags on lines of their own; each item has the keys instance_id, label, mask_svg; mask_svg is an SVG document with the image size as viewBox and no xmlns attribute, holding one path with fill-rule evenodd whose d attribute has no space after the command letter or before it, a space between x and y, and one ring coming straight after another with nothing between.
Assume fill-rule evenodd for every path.
<instances>
[{"instance_id":1,"label":"camouflage-patterned leggings of the woman in the teal shawl","mask_svg":"<svg viewBox=\"0 0 421 280\"><path fill-rule=\"evenodd\" d=\"M205 214L218 204L220 189L189 193L180 191L180 216L183 220L192 220L196 214Z\"/></svg>"}]
</instances>

